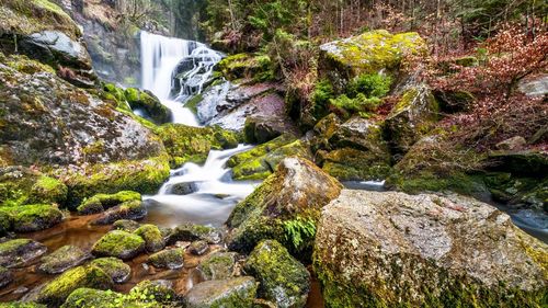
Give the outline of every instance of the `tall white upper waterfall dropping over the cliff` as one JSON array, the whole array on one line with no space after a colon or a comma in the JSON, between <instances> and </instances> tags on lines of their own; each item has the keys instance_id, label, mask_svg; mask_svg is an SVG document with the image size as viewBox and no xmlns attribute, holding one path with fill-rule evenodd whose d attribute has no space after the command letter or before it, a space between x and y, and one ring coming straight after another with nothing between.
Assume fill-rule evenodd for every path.
<instances>
[{"instance_id":1,"label":"tall white upper waterfall dropping over the cliff","mask_svg":"<svg viewBox=\"0 0 548 308\"><path fill-rule=\"evenodd\" d=\"M173 122L198 126L196 116L184 102L199 94L204 83L213 73L214 66L221 59L219 53L194 41L165 37L141 31L141 87L151 91L173 113ZM183 71L176 71L181 68ZM181 75L175 84L175 73ZM181 88L172 95L174 87Z\"/></svg>"}]
</instances>

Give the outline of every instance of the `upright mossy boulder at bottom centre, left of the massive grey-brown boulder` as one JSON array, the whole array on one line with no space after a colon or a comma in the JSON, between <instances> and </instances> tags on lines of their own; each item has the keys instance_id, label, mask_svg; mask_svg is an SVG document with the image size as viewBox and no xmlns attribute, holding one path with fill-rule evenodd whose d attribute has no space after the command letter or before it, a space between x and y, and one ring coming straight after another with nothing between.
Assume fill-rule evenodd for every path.
<instances>
[{"instance_id":1,"label":"upright mossy boulder at bottom centre, left of the massive grey-brown boulder","mask_svg":"<svg viewBox=\"0 0 548 308\"><path fill-rule=\"evenodd\" d=\"M310 273L277 241L260 242L244 265L260 283L258 295L277 307L305 307Z\"/></svg>"}]
</instances>

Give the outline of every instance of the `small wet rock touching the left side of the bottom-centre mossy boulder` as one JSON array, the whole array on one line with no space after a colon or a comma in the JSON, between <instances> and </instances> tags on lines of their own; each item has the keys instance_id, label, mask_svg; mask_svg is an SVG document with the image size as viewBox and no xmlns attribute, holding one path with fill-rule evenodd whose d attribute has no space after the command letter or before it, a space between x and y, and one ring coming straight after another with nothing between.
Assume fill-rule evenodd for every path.
<instances>
[{"instance_id":1,"label":"small wet rock touching the left side of the bottom-centre mossy boulder","mask_svg":"<svg viewBox=\"0 0 548 308\"><path fill-rule=\"evenodd\" d=\"M207 281L228 280L233 276L236 252L215 252L202 260L199 271Z\"/></svg>"}]
</instances>

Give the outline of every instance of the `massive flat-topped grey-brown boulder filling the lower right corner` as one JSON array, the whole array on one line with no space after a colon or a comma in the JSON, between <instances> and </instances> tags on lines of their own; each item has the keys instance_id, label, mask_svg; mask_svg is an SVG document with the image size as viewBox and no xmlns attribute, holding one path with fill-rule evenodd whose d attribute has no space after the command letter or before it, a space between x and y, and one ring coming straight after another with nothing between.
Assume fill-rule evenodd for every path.
<instances>
[{"instance_id":1,"label":"massive flat-topped grey-brown boulder filling the lower right corner","mask_svg":"<svg viewBox=\"0 0 548 308\"><path fill-rule=\"evenodd\" d=\"M342 191L322 212L327 307L537 306L548 247L472 198Z\"/></svg>"}]
</instances>

